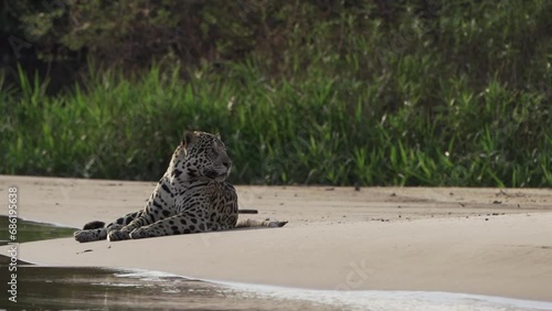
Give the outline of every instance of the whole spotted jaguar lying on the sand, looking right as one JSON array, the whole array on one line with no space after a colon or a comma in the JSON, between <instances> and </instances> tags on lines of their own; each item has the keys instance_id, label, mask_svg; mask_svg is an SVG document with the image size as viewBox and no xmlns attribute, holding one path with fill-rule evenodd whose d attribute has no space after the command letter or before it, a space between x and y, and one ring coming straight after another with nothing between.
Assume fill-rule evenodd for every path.
<instances>
[{"instance_id":1,"label":"whole spotted jaguar lying on the sand, looking right","mask_svg":"<svg viewBox=\"0 0 552 311\"><path fill-rule=\"evenodd\" d=\"M144 210L106 227L102 222L88 223L75 232L75 239L123 240L224 230L236 225L284 226L287 222L246 219L237 224L237 194L225 181L231 168L232 161L217 135L187 132Z\"/></svg>"}]
</instances>

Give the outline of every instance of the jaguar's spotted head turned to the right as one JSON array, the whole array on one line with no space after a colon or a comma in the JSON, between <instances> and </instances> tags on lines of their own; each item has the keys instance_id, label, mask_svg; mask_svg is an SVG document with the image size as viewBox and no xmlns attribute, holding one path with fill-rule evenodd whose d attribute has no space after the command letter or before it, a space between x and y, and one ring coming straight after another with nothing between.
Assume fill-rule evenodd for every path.
<instances>
[{"instance_id":1,"label":"jaguar's spotted head turned to the right","mask_svg":"<svg viewBox=\"0 0 552 311\"><path fill-rule=\"evenodd\" d=\"M190 178L205 176L222 182L230 175L232 160L219 135L187 131L181 148L183 170Z\"/></svg>"}]
</instances>

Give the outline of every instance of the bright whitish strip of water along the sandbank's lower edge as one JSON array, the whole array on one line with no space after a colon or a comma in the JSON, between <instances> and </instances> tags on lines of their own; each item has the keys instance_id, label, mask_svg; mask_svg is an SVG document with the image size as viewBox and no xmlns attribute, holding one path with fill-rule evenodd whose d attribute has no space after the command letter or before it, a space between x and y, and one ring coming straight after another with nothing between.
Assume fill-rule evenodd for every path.
<instances>
[{"instance_id":1,"label":"bright whitish strip of water along the sandbank's lower edge","mask_svg":"<svg viewBox=\"0 0 552 311\"><path fill-rule=\"evenodd\" d=\"M153 280L156 278L182 277L172 274L131 269L118 277ZM187 277L183 277L187 278ZM199 280L194 278L187 278ZM233 294L244 298L300 300L336 307L340 310L552 310L552 302L521 300L502 297L428 291L339 291L286 288L277 286L202 280L223 286Z\"/></svg>"}]
</instances>

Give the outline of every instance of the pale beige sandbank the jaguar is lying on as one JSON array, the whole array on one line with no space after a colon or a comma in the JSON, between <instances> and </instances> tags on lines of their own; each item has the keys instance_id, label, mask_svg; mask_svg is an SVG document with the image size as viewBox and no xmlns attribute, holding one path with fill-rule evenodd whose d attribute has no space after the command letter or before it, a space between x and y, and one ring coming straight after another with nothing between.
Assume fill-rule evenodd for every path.
<instances>
[{"instance_id":1,"label":"pale beige sandbank the jaguar is lying on","mask_svg":"<svg viewBox=\"0 0 552 311\"><path fill-rule=\"evenodd\" d=\"M20 217L77 228L142 208L155 183L0 176L2 196L12 185ZM552 301L551 190L236 189L242 208L259 211L243 216L289 224L117 243L33 242L20 245L20 259L296 288Z\"/></svg>"}]
</instances>

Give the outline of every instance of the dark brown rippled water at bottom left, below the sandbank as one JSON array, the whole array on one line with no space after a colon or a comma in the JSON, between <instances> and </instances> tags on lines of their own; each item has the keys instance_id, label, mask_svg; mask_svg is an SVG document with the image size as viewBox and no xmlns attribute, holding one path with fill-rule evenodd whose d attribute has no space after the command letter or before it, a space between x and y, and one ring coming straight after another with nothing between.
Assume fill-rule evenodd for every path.
<instances>
[{"instance_id":1,"label":"dark brown rippled water at bottom left, below the sandbank","mask_svg":"<svg viewBox=\"0 0 552 311\"><path fill-rule=\"evenodd\" d=\"M6 262L7 258L2 258ZM2 274L7 271L0 266ZM4 279L4 278L2 278ZM315 302L243 296L181 277L82 267L18 267L18 302L8 310L338 310Z\"/></svg>"}]
</instances>

